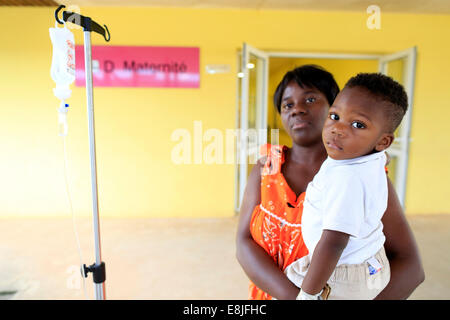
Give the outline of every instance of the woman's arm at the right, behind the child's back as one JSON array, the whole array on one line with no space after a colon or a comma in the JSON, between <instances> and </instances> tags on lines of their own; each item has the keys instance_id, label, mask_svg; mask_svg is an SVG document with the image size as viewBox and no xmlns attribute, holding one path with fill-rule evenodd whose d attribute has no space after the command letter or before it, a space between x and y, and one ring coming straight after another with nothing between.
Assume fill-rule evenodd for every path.
<instances>
[{"instance_id":1,"label":"woman's arm at the right, behind the child's back","mask_svg":"<svg viewBox=\"0 0 450 320\"><path fill-rule=\"evenodd\" d=\"M406 299L425 280L425 273L414 235L389 178L388 206L382 222L391 280L375 299Z\"/></svg>"}]
</instances>

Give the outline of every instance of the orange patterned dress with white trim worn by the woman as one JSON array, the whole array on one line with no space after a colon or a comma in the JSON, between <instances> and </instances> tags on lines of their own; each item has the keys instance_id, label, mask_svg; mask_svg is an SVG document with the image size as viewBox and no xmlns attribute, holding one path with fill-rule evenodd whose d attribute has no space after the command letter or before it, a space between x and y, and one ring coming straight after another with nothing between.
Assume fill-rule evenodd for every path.
<instances>
[{"instance_id":1,"label":"orange patterned dress with white trim worn by the woman","mask_svg":"<svg viewBox=\"0 0 450 320\"><path fill-rule=\"evenodd\" d=\"M283 271L308 254L300 224L305 193L297 198L281 173L287 149L270 144L261 147L261 155L267 156L261 172L261 204L254 208L250 222L253 239ZM252 282L249 294L252 300L272 299Z\"/></svg>"}]
</instances>

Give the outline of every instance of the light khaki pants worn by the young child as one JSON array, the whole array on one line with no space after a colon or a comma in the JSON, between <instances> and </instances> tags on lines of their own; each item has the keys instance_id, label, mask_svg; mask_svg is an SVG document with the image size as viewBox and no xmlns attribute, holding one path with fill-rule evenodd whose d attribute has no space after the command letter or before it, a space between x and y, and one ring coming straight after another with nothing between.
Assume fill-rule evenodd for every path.
<instances>
[{"instance_id":1,"label":"light khaki pants worn by the young child","mask_svg":"<svg viewBox=\"0 0 450 320\"><path fill-rule=\"evenodd\" d=\"M370 263L340 265L331 274L328 285L331 288L328 300L372 300L389 283L391 272L384 248L374 256L381 270L370 274ZM310 259L303 257L290 264L284 273L299 288L308 271Z\"/></svg>"}]
</instances>

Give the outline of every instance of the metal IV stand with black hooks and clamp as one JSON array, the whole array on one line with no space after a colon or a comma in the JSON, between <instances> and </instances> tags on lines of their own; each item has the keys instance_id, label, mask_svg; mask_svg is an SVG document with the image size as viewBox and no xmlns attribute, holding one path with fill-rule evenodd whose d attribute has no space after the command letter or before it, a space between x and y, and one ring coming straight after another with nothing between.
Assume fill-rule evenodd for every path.
<instances>
[{"instance_id":1,"label":"metal IV stand with black hooks and clamp","mask_svg":"<svg viewBox=\"0 0 450 320\"><path fill-rule=\"evenodd\" d=\"M58 18L58 13L61 9L65 8L64 5L60 5L55 11L55 19L58 23L63 24ZM92 90L92 50L91 50L91 32L97 32L105 38L106 41L110 40L110 34L108 27L101 27L95 21L89 17L85 17L70 11L63 11L63 20L66 22L72 22L83 27L84 31L84 62L86 71L86 96L87 96L87 115L89 125L89 154L91 160L91 187L92 187L92 210L93 210L93 222L94 222L94 243L95 243L95 263L87 267L83 265L82 275L87 277L89 272L93 274L93 280L95 284L95 298L96 300L105 300L105 280L106 270L105 263L101 258L101 244L100 244L100 225L99 225L99 213L98 213L98 189L97 189L97 163L95 154L95 122L94 122L94 97ZM106 31L105 31L106 30ZM106 37L106 33L108 37Z\"/></svg>"}]
</instances>

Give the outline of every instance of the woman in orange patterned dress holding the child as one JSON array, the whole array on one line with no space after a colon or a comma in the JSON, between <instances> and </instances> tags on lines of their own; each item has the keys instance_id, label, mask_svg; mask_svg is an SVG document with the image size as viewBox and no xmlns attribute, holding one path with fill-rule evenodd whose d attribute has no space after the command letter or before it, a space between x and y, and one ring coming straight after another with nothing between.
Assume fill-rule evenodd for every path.
<instances>
[{"instance_id":1,"label":"woman in orange patterned dress holding the child","mask_svg":"<svg viewBox=\"0 0 450 320\"><path fill-rule=\"evenodd\" d=\"M300 227L303 201L308 183L328 157L322 129L338 93L333 76L312 65L288 72L275 92L275 106L292 148L269 146L250 173L244 193L237 258L251 280L251 299L299 296L299 287L285 271L308 255ZM389 179L386 201L381 222L390 280L376 299L406 299L424 280L424 273L414 236Z\"/></svg>"}]
</instances>

